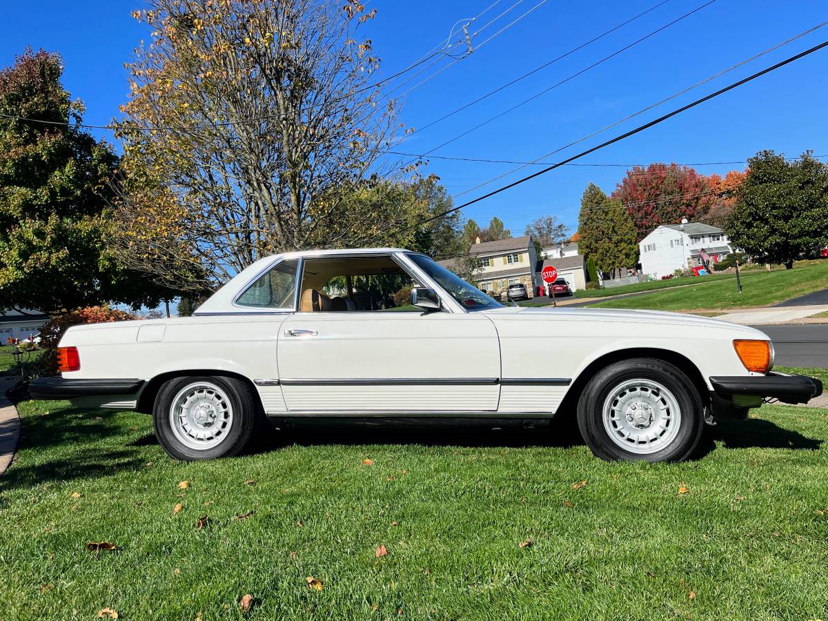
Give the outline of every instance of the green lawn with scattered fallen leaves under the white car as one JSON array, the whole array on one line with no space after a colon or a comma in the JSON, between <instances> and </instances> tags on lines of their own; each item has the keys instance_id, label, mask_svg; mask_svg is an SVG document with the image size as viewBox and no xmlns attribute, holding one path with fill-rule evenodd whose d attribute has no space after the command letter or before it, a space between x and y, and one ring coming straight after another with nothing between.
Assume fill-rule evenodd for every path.
<instances>
[{"instance_id":1,"label":"green lawn with scattered fallen leaves under the white car","mask_svg":"<svg viewBox=\"0 0 828 621\"><path fill-rule=\"evenodd\" d=\"M828 410L763 407L643 465L493 431L292 432L185 464L148 416L19 409L2 619L828 616Z\"/></svg>"}]
</instances>

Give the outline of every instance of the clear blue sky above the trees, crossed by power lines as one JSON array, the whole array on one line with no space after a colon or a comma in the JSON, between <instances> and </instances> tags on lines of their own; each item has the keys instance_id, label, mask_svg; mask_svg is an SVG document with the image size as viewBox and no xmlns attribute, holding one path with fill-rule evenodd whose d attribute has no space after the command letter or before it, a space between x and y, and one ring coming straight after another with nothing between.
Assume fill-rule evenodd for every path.
<instances>
[{"instance_id":1,"label":"clear blue sky above the trees, crossed by power lines","mask_svg":"<svg viewBox=\"0 0 828 621\"><path fill-rule=\"evenodd\" d=\"M481 33L475 43L507 26L541 1L523 0ZM373 22L368 22L365 36L372 39L373 51L383 59L384 74L392 75L445 40L455 22L474 17L493 2L366 2L368 7L376 7L378 13ZM478 27L484 25L516 2L501 0L476 24ZM423 127L657 2L547 0L472 55L408 94L403 102L401 121L415 129ZM403 152L425 152L704 2L669 0L646 16L512 88L431 128L414 132L398 148ZM0 25L0 65L10 65L14 55L26 45L60 52L65 59L65 86L86 104L85 122L108 123L118 115L118 105L128 94L123 63L129 60L138 41L147 37L147 31L129 17L129 13L139 7L142 7L139 0L7 2ZM440 149L435 155L532 160L826 20L828 6L816 0L717 0L594 70ZM826 39L828 26L635 121L595 137L580 148L570 148L561 156L602 142L602 138L611 137L615 132L633 128L659 113ZM439 67L439 64L435 65L432 70ZM397 93L430 73L422 74ZM788 156L796 156L806 149L812 149L817 155L828 154L826 75L828 49L583 161L736 161L764 148ZM99 135L105 135L105 132L99 132ZM440 176L450 193L457 194L513 167L432 160L427 171ZM705 174L714 171L724 174L734 167L739 166L699 166L699 170ZM623 168L614 167L566 166L474 205L465 210L465 215L479 224L498 215L515 234L522 233L532 219L556 215L574 230L585 185L594 181L609 193L623 172ZM508 176L458 200L468 200L526 173L524 170Z\"/></svg>"}]
</instances>

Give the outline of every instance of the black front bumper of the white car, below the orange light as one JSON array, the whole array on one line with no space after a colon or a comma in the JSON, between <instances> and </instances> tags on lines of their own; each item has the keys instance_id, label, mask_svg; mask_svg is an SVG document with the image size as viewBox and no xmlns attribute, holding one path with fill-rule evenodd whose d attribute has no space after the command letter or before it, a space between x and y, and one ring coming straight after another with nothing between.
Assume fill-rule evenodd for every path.
<instances>
[{"instance_id":1,"label":"black front bumper of the white car, below the orange light","mask_svg":"<svg viewBox=\"0 0 828 621\"><path fill-rule=\"evenodd\" d=\"M765 398L782 403L807 403L822 394L822 383L818 379L784 373L720 376L710 378L710 385L713 414L726 418L745 418L748 410L759 407Z\"/></svg>"}]
</instances>

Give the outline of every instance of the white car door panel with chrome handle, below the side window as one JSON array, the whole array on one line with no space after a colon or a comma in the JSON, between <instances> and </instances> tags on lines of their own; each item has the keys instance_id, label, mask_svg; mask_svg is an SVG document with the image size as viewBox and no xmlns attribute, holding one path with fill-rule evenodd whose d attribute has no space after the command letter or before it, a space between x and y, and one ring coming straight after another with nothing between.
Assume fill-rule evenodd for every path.
<instances>
[{"instance_id":1,"label":"white car door panel with chrome handle, below the side window","mask_svg":"<svg viewBox=\"0 0 828 621\"><path fill-rule=\"evenodd\" d=\"M300 310L282 324L277 358L290 412L498 408L498 335L480 314Z\"/></svg>"}]
</instances>

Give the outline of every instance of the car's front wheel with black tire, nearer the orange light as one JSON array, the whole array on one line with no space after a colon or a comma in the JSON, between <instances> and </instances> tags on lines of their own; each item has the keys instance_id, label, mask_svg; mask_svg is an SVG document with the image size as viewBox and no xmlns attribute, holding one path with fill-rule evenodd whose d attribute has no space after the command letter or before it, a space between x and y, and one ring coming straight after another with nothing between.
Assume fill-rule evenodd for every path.
<instances>
[{"instance_id":1,"label":"car's front wheel with black tire, nearer the orange light","mask_svg":"<svg viewBox=\"0 0 828 621\"><path fill-rule=\"evenodd\" d=\"M657 359L601 369L578 402L578 426L603 460L681 461L699 443L704 412L687 376Z\"/></svg>"}]
</instances>

